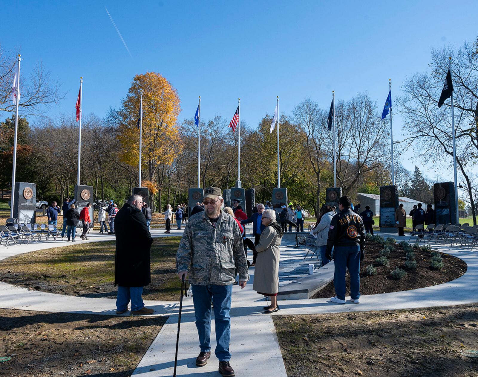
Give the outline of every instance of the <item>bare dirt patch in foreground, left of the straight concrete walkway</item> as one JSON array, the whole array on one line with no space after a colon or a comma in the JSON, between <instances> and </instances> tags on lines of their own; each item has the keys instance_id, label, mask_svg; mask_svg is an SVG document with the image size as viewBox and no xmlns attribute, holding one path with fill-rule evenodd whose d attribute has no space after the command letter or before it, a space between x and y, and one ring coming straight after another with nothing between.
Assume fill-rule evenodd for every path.
<instances>
[{"instance_id":1,"label":"bare dirt patch in foreground, left of the straight concrete walkway","mask_svg":"<svg viewBox=\"0 0 478 377\"><path fill-rule=\"evenodd\" d=\"M0 309L0 376L130 376L166 317Z\"/></svg>"}]
</instances>

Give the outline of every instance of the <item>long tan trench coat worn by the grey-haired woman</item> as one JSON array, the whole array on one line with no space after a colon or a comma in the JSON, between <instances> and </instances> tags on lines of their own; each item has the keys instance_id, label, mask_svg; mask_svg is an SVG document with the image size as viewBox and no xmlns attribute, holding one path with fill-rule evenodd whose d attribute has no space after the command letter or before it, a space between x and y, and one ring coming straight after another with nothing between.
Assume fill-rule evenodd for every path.
<instances>
[{"instance_id":1,"label":"long tan trench coat worn by the grey-haired woman","mask_svg":"<svg viewBox=\"0 0 478 377\"><path fill-rule=\"evenodd\" d=\"M279 292L279 246L281 241L282 237L272 226L266 226L261 233L261 240L256 246L257 259L252 286L256 292Z\"/></svg>"}]
</instances>

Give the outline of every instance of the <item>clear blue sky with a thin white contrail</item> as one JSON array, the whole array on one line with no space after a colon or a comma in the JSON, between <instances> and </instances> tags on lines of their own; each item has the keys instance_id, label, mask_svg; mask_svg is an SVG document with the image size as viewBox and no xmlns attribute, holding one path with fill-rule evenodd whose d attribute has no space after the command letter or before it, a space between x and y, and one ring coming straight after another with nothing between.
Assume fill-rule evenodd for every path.
<instances>
[{"instance_id":1,"label":"clear blue sky with a thin white contrail","mask_svg":"<svg viewBox=\"0 0 478 377\"><path fill-rule=\"evenodd\" d=\"M73 114L83 76L83 110L102 117L120 105L133 76L146 71L160 72L178 90L180 120L194 117L198 96L203 119L232 117L240 97L241 120L252 127L273 112L276 96L286 114L305 97L328 108L332 90L344 100L368 91L381 108L389 78L394 99L407 76L428 68L431 47L459 46L478 35L472 0L0 4L3 20L10 20L0 43L22 47L22 74L43 61L68 91L50 115ZM393 124L400 140L400 116ZM411 154L405 157L413 169Z\"/></svg>"}]
</instances>

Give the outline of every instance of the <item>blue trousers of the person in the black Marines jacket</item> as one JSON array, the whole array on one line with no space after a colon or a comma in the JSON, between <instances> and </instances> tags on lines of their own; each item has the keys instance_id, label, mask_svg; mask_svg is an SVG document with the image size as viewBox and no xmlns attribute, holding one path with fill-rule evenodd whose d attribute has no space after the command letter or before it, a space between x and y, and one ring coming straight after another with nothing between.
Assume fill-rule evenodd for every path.
<instances>
[{"instance_id":1,"label":"blue trousers of the person in the black Marines jacket","mask_svg":"<svg viewBox=\"0 0 478 377\"><path fill-rule=\"evenodd\" d=\"M350 274L350 298L360 297L360 246L335 246L334 288L338 299L345 300L345 273Z\"/></svg>"}]
</instances>

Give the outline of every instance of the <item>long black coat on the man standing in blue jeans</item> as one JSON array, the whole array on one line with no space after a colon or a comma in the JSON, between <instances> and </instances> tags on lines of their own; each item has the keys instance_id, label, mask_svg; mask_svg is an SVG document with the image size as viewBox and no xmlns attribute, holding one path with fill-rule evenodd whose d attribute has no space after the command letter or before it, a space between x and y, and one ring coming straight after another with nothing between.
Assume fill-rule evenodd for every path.
<instances>
[{"instance_id":1,"label":"long black coat on the man standing in blue jeans","mask_svg":"<svg viewBox=\"0 0 478 377\"><path fill-rule=\"evenodd\" d=\"M152 237L142 212L126 203L116 214L115 235L115 285L148 285L151 282Z\"/></svg>"}]
</instances>

